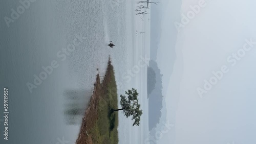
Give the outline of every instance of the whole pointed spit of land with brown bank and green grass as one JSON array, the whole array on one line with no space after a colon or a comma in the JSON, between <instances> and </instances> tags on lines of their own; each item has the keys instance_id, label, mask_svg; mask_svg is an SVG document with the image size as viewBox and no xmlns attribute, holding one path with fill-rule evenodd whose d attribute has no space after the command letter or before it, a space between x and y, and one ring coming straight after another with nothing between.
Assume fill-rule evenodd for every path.
<instances>
[{"instance_id":1,"label":"whole pointed spit of land with brown bank and green grass","mask_svg":"<svg viewBox=\"0 0 256 144\"><path fill-rule=\"evenodd\" d=\"M113 65L109 60L102 83L99 75L96 77L93 95L83 116L76 143L118 143L118 112L110 113L110 109L117 108L117 86Z\"/></svg>"}]
</instances>

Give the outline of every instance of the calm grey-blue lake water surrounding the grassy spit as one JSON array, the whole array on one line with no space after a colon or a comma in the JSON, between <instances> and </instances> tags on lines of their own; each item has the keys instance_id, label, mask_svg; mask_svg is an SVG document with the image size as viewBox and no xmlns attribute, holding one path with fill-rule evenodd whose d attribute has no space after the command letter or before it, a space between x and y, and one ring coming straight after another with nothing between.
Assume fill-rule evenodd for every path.
<instances>
[{"instance_id":1,"label":"calm grey-blue lake water surrounding the grassy spit","mask_svg":"<svg viewBox=\"0 0 256 144\"><path fill-rule=\"evenodd\" d=\"M96 74L103 78L109 57L118 94L137 88L143 108L139 127L120 114L119 143L142 143L147 137L147 66L140 66L129 81L124 76L141 57L150 56L149 15L144 21L136 16L134 1L38 0L8 27L4 17L11 18L11 9L20 5L1 2L0 74L1 87L9 89L8 143L61 143L62 138L74 143Z\"/></svg>"}]
</instances>

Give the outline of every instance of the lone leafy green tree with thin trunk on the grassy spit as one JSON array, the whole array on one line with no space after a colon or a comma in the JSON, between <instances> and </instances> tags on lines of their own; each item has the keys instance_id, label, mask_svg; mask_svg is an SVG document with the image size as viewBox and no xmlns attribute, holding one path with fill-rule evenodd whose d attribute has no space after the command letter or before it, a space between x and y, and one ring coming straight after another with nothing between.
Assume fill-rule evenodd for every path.
<instances>
[{"instance_id":1,"label":"lone leafy green tree with thin trunk on the grassy spit","mask_svg":"<svg viewBox=\"0 0 256 144\"><path fill-rule=\"evenodd\" d=\"M121 100L120 100L120 105L122 108L120 109L111 109L111 113L115 111L122 110L122 113L126 117L132 116L132 120L134 121L133 126L140 125L140 116L142 114L142 110L140 109L140 104L138 103L138 95L139 93L135 88L132 88L132 90L125 91L125 95L120 95Z\"/></svg>"}]
</instances>

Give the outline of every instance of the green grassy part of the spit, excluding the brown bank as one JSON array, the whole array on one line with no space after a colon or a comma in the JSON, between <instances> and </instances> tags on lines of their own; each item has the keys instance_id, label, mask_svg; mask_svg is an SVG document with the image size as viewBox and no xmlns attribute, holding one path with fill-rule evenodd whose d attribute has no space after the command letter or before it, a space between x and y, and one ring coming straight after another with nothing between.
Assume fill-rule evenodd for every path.
<instances>
[{"instance_id":1,"label":"green grassy part of the spit, excluding the brown bank","mask_svg":"<svg viewBox=\"0 0 256 144\"><path fill-rule=\"evenodd\" d=\"M113 66L109 66L101 86L98 119L95 127L89 131L93 143L118 143L118 112L110 113L111 109L118 108L117 86Z\"/></svg>"}]
</instances>

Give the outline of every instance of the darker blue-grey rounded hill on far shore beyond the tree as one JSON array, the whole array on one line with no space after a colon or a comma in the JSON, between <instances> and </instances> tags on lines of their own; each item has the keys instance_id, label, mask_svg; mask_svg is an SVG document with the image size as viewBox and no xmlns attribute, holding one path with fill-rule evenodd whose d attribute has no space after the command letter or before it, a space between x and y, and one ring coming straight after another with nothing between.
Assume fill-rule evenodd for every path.
<instances>
[{"instance_id":1,"label":"darker blue-grey rounded hill on far shore beyond the tree","mask_svg":"<svg viewBox=\"0 0 256 144\"><path fill-rule=\"evenodd\" d=\"M149 71L148 76L153 77L147 77L147 85L150 88L148 91L147 98L148 98L148 127L151 131L153 128L157 126L157 124L160 121L160 117L162 115L161 109L163 108L162 102L163 102L163 95L162 95L162 76L160 74L160 69L157 66L157 63L153 60L150 61L149 64Z\"/></svg>"}]
</instances>

